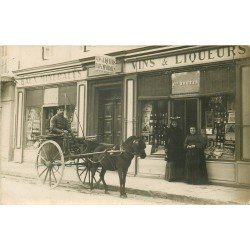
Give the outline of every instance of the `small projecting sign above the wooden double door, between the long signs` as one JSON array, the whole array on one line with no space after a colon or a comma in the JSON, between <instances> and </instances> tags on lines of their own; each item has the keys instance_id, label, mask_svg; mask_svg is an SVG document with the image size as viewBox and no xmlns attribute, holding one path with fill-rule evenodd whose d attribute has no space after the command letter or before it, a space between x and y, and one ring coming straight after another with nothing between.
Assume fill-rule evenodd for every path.
<instances>
[{"instance_id":1,"label":"small projecting sign above the wooden double door, between the long signs","mask_svg":"<svg viewBox=\"0 0 250 250\"><path fill-rule=\"evenodd\" d=\"M115 74L116 72L116 59L111 56L96 56L95 57L95 70L105 72L108 74Z\"/></svg>"}]
</instances>

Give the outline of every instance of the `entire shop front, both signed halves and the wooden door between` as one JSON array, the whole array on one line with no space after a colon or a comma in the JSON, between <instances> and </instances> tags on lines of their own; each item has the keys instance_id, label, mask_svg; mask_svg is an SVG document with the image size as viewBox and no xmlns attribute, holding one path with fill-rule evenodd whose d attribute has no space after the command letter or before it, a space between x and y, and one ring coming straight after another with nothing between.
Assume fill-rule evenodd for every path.
<instances>
[{"instance_id":1,"label":"entire shop front, both signed halves and the wooden door between","mask_svg":"<svg viewBox=\"0 0 250 250\"><path fill-rule=\"evenodd\" d=\"M249 46L166 46L110 56L117 61L113 74L96 70L94 58L17 72L15 161L34 159L36 136L47 132L55 107L65 105L78 136L118 145L143 136L147 157L135 158L129 173L164 178L165 131L179 116L184 137L196 126L207 138L210 182L250 185Z\"/></svg>"}]
</instances>

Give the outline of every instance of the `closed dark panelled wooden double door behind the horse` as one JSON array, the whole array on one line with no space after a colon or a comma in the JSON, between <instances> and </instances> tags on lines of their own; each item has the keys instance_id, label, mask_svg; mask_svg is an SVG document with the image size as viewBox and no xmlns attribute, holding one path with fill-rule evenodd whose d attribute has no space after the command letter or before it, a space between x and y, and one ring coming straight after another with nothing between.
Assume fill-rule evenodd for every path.
<instances>
[{"instance_id":1,"label":"closed dark panelled wooden double door behind the horse","mask_svg":"<svg viewBox=\"0 0 250 250\"><path fill-rule=\"evenodd\" d=\"M109 89L99 92L98 136L100 141L120 144L122 130L121 90Z\"/></svg>"}]
</instances>

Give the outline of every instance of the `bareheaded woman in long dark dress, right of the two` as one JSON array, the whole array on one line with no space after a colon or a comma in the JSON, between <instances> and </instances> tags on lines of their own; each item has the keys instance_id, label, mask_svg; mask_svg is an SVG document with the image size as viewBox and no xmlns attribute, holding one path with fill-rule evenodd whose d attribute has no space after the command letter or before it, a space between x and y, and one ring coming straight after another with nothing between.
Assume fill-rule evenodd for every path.
<instances>
[{"instance_id":1,"label":"bareheaded woman in long dark dress, right of the two","mask_svg":"<svg viewBox=\"0 0 250 250\"><path fill-rule=\"evenodd\" d=\"M186 181L190 184L207 184L207 169L204 155L206 140L197 134L196 128L190 128L190 135L184 142L186 150Z\"/></svg>"}]
</instances>

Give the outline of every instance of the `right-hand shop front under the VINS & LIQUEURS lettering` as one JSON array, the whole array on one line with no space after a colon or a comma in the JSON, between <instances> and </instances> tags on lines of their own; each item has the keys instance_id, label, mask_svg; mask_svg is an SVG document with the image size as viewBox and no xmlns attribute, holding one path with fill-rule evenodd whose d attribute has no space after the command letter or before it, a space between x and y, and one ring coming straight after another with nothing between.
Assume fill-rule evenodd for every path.
<instances>
[{"instance_id":1,"label":"right-hand shop front under the VINS & LIQUEURS lettering","mask_svg":"<svg viewBox=\"0 0 250 250\"><path fill-rule=\"evenodd\" d=\"M136 75L137 134L147 158L136 174L164 178L165 131L180 117L207 138L205 156L212 183L250 185L249 46L197 47L127 58L126 76Z\"/></svg>"}]
</instances>

